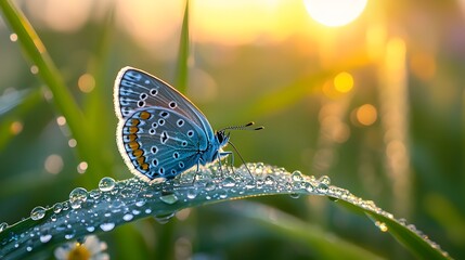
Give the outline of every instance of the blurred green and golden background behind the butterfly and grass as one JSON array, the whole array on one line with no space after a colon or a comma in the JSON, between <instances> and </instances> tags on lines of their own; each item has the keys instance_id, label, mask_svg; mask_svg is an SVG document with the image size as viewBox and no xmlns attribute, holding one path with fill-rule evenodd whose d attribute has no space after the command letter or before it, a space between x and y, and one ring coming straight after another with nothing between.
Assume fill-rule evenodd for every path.
<instances>
[{"instance_id":1,"label":"blurred green and golden background behind the butterfly and grass","mask_svg":"<svg viewBox=\"0 0 465 260\"><path fill-rule=\"evenodd\" d=\"M92 156L0 18L0 222L132 177L113 82L127 65L176 86L185 1L17 0L82 110ZM465 1L190 2L186 95L246 161L330 176L465 258ZM238 161L236 161L238 164ZM249 199L383 258L411 259L366 218L318 197ZM312 246L231 209L183 211L99 235L114 259L313 259ZM276 220L279 222L279 220ZM322 238L323 239L323 238ZM165 255L160 255L165 251ZM341 256L344 257L344 256Z\"/></svg>"}]
</instances>

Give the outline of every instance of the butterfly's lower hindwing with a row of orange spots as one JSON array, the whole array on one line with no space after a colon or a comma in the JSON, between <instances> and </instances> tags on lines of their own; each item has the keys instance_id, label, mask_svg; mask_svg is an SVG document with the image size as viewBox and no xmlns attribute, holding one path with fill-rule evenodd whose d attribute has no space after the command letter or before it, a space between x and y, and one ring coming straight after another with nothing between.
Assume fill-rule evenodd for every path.
<instances>
[{"instance_id":1,"label":"butterfly's lower hindwing with a row of orange spots","mask_svg":"<svg viewBox=\"0 0 465 260\"><path fill-rule=\"evenodd\" d=\"M131 171L143 179L176 177L197 165L208 145L203 129L164 107L140 108L122 122L118 147Z\"/></svg>"}]
</instances>

